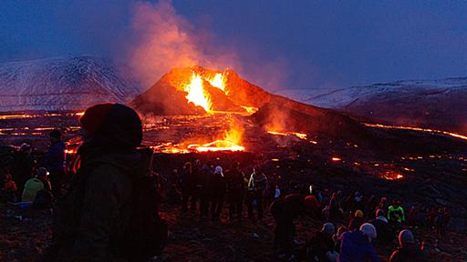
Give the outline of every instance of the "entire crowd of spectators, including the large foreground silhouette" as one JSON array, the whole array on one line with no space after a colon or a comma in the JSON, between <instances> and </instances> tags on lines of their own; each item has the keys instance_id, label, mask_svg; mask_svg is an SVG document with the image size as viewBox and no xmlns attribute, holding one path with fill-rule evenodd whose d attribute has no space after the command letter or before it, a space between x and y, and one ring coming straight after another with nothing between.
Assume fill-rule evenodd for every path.
<instances>
[{"instance_id":1,"label":"entire crowd of spectators, including the large foreground silhouette","mask_svg":"<svg viewBox=\"0 0 467 262\"><path fill-rule=\"evenodd\" d=\"M32 146L25 143L2 172L1 201L33 207L54 203L54 234L44 261L147 261L159 256L168 234L157 212L161 197L169 202L180 198L174 203L181 203L182 217L192 212L214 223L223 207L230 221L262 221L270 214L279 261L379 261L378 247L394 243L398 247L389 261L422 261L432 245L427 239L419 245L410 228L436 228L441 238L450 220L447 207L410 207L407 212L399 199L389 204L384 196L367 197L359 191L344 196L314 185L285 183L267 176L260 165L250 169L240 163L194 160L170 175L156 176L153 155L138 149L142 125L130 107L92 106L80 124L84 143L78 149L78 173L67 186L65 144L57 130L49 134L51 145L42 161L36 161ZM297 217L323 223L302 245L296 241Z\"/></svg>"}]
</instances>

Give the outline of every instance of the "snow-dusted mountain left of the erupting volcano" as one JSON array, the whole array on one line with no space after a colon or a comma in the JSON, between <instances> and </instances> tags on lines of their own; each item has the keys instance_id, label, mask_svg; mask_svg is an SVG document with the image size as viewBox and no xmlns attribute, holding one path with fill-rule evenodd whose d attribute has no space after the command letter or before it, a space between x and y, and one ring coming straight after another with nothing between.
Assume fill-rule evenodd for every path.
<instances>
[{"instance_id":1,"label":"snow-dusted mountain left of the erupting volcano","mask_svg":"<svg viewBox=\"0 0 467 262\"><path fill-rule=\"evenodd\" d=\"M0 112L83 110L126 103L140 91L111 63L92 56L0 64Z\"/></svg>"}]
</instances>

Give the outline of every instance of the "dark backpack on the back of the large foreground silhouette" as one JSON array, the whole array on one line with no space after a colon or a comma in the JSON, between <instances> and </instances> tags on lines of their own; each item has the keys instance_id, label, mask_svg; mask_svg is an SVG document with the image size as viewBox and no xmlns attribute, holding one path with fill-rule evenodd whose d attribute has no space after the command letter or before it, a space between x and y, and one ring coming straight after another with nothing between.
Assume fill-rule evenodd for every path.
<instances>
[{"instance_id":1,"label":"dark backpack on the back of the large foreground silhouette","mask_svg":"<svg viewBox=\"0 0 467 262\"><path fill-rule=\"evenodd\" d=\"M148 261L160 256L168 236L167 222L159 216L160 192L150 176L152 151L149 148L139 151L144 166L149 168L143 169L146 176L133 179L130 223L121 245L123 257L129 261Z\"/></svg>"}]
</instances>

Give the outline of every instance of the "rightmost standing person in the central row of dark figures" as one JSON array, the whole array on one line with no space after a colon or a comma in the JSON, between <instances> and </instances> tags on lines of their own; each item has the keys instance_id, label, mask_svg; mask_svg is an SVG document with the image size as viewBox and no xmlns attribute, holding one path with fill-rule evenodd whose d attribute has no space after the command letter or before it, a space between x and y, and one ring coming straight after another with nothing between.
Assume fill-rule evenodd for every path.
<instances>
[{"instance_id":1,"label":"rightmost standing person in the central row of dark figures","mask_svg":"<svg viewBox=\"0 0 467 262\"><path fill-rule=\"evenodd\" d=\"M263 198L267 186L267 177L261 172L259 166L254 166L253 173L248 180L248 218L253 219L253 207L258 210L258 219L263 219Z\"/></svg>"}]
</instances>

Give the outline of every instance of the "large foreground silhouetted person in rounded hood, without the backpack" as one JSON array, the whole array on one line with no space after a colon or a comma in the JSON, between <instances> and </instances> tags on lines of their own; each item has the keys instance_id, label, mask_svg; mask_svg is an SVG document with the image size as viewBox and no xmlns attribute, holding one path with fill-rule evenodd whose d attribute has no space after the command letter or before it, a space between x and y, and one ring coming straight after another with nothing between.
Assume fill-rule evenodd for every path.
<instances>
[{"instance_id":1,"label":"large foreground silhouetted person in rounded hood, without the backpack","mask_svg":"<svg viewBox=\"0 0 467 262\"><path fill-rule=\"evenodd\" d=\"M136 150L140 116L128 106L100 104L89 107L80 124L84 143L78 149L78 174L54 210L53 243L45 261L114 261L129 246L125 229L134 208L132 186L143 174Z\"/></svg>"}]
</instances>

